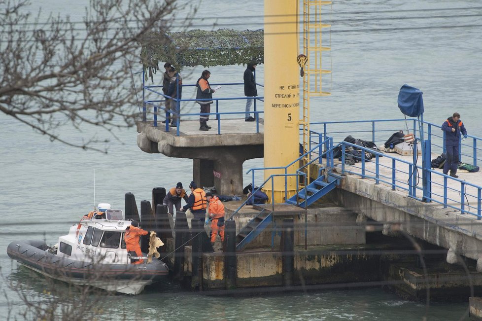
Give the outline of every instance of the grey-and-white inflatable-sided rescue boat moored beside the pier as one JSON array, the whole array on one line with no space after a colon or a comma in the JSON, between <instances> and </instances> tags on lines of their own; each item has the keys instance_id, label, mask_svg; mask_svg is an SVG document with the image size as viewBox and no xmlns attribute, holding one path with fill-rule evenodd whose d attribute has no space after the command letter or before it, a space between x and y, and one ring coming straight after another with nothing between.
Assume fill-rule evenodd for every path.
<instances>
[{"instance_id":1,"label":"grey-and-white inflatable-sided rescue boat moored beside the pier","mask_svg":"<svg viewBox=\"0 0 482 321\"><path fill-rule=\"evenodd\" d=\"M39 240L14 241L7 253L27 268L53 279L138 294L146 285L164 279L169 268L158 259L147 263L144 254L128 254L124 233L129 225L131 221L124 220L121 210L109 209L105 218L84 216L53 247ZM144 262L131 263L131 259L139 258Z\"/></svg>"}]
</instances>

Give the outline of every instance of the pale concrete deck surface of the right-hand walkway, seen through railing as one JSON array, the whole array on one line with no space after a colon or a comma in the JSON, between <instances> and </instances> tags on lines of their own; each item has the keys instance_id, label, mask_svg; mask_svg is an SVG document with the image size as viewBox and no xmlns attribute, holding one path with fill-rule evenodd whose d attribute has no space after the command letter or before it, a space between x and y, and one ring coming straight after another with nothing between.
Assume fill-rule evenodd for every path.
<instances>
[{"instance_id":1,"label":"pale concrete deck surface of the right-hand walkway, seen through railing","mask_svg":"<svg viewBox=\"0 0 482 321\"><path fill-rule=\"evenodd\" d=\"M413 163L413 156L402 156L398 153L385 153L388 157L379 157L379 178L380 184L390 186L392 182L392 158L397 158L399 160L403 160L405 162ZM437 154L432 154L432 159L436 158ZM419 156L417 165L421 166L421 156ZM337 164L337 167L341 170L341 163ZM403 188L409 188L407 183L409 179L409 165L400 161L396 161L395 163L396 168L396 185L399 186L396 188L397 191L408 195L408 191L404 190ZM348 174L361 174L361 163L355 163L354 166L345 165L345 171ZM442 169L436 169L436 172L442 173ZM375 159L370 162L365 163L365 175L371 177L367 179L374 179L376 173L376 163ZM417 179L415 180L416 184L416 192L415 196L417 198L422 197L422 173L419 170L418 173L415 173ZM448 178L447 179L447 203L449 206L453 206L456 209L460 208L462 196L460 194L462 183L467 182L474 185L482 186L482 171L477 173L468 173L464 170L458 170L457 175L459 176L458 179L456 178ZM419 178L419 179L418 179ZM382 181L383 180L383 181ZM470 211L472 213L477 213L478 207L478 190L475 187L465 185L465 211ZM444 177L441 175L432 174L432 199L436 200L437 202L444 202ZM467 204L470 206L467 206ZM443 205L439 205L443 208ZM450 210L450 209L449 209ZM455 209L452 209L455 210ZM477 219L476 216L472 216Z\"/></svg>"}]
</instances>

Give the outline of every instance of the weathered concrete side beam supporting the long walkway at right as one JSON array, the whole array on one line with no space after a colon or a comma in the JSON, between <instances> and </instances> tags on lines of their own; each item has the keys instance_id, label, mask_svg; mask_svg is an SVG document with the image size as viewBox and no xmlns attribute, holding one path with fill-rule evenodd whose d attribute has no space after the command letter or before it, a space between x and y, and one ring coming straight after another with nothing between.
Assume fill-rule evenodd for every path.
<instances>
[{"instance_id":1,"label":"weathered concrete side beam supporting the long walkway at right","mask_svg":"<svg viewBox=\"0 0 482 321\"><path fill-rule=\"evenodd\" d=\"M374 171L375 164L366 163L366 169ZM353 168L352 171L359 169ZM479 176L479 173L465 175L473 174L474 178ZM405 178L401 174L398 179L403 181ZM451 193L455 194L456 191ZM347 210L388 224L386 232L397 230L447 249L447 261L450 263L455 262L454 255L475 260L482 258L482 221L473 215L444 209L435 202L415 200L408 197L406 191L392 190L388 184L376 184L373 179L363 179L357 175L347 175L342 179L340 188L328 195L333 203ZM481 272L482 265L479 265Z\"/></svg>"}]
</instances>

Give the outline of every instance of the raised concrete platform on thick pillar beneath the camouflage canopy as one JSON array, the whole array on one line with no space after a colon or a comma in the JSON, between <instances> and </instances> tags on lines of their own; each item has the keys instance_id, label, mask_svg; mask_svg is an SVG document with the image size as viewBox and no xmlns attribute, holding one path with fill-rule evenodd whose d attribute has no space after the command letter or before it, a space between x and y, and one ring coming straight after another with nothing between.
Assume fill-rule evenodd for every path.
<instances>
[{"instance_id":1,"label":"raised concrete platform on thick pillar beneath the camouflage canopy","mask_svg":"<svg viewBox=\"0 0 482 321\"><path fill-rule=\"evenodd\" d=\"M153 122L138 122L138 146L147 153L193 159L193 178L199 186L215 186L220 194L242 195L242 164L263 157L263 123L259 133L255 122L223 119L221 134L218 123L209 120L209 131L199 131L198 120L181 121L180 136L176 128L157 127Z\"/></svg>"}]
</instances>

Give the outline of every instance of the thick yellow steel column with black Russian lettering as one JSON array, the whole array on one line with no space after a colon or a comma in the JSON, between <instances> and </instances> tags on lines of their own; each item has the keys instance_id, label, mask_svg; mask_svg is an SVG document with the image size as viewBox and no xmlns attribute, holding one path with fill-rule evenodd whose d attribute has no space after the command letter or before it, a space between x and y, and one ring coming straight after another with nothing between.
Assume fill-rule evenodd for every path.
<instances>
[{"instance_id":1,"label":"thick yellow steel column with black Russian lettering","mask_svg":"<svg viewBox=\"0 0 482 321\"><path fill-rule=\"evenodd\" d=\"M299 157L300 69L297 52L297 0L265 0L264 68L264 165L286 166ZM298 163L288 169L295 174ZM265 170L265 179L284 170ZM296 192L294 176L274 180L275 202L284 202ZM272 184L264 189L270 196Z\"/></svg>"}]
</instances>

